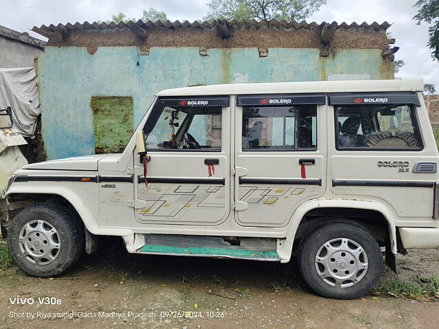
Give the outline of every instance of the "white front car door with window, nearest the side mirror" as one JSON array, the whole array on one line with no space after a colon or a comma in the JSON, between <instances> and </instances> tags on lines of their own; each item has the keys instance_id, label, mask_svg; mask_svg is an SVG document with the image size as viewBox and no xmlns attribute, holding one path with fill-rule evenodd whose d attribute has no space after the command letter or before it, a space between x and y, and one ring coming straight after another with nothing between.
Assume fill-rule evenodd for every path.
<instances>
[{"instance_id":1,"label":"white front car door with window, nearest the side mirror","mask_svg":"<svg viewBox=\"0 0 439 329\"><path fill-rule=\"evenodd\" d=\"M230 213L229 97L158 99L144 127L146 180L134 153L140 223L217 225Z\"/></svg>"}]
</instances>

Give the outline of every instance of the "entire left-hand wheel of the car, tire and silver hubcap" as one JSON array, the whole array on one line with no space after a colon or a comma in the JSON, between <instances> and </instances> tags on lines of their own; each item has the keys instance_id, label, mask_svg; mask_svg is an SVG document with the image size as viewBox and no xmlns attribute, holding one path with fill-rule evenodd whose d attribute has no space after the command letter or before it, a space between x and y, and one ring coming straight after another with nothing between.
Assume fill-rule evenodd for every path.
<instances>
[{"instance_id":1,"label":"entire left-hand wheel of the car, tire and silver hubcap","mask_svg":"<svg viewBox=\"0 0 439 329\"><path fill-rule=\"evenodd\" d=\"M66 208L37 204L24 208L8 226L8 246L15 264L31 276L57 276L84 250L84 226Z\"/></svg>"}]
</instances>

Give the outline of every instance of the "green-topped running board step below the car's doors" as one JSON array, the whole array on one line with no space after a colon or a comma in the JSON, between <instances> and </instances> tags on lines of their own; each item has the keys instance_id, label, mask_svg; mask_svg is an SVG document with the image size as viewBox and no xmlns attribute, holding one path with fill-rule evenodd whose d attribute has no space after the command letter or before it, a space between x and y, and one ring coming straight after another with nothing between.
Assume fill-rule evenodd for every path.
<instances>
[{"instance_id":1,"label":"green-topped running board step below the car's doors","mask_svg":"<svg viewBox=\"0 0 439 329\"><path fill-rule=\"evenodd\" d=\"M278 254L272 250L256 251L244 249L229 249L215 247L172 247L169 245L144 245L138 252L147 254L167 254L180 256L204 256L215 258L246 258L253 260L281 261Z\"/></svg>"}]
</instances>

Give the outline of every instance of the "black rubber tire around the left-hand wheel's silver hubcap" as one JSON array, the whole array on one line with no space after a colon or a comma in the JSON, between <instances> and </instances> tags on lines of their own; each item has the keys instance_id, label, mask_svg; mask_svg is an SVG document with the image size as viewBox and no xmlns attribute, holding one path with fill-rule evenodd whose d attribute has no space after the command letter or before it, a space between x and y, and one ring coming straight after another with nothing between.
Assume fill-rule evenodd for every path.
<instances>
[{"instance_id":1,"label":"black rubber tire around the left-hand wheel's silver hubcap","mask_svg":"<svg viewBox=\"0 0 439 329\"><path fill-rule=\"evenodd\" d=\"M20 240L21 230L27 223L37 220L45 221L58 234L56 239L59 240L60 247L56 250L56 258L47 260L51 263L33 263L29 260L33 259L32 256L25 256L21 249L24 248ZM30 276L40 278L58 276L74 265L84 250L84 239L84 226L80 219L67 208L53 204L36 204L24 208L11 219L8 227L8 246L14 263Z\"/></svg>"}]
</instances>

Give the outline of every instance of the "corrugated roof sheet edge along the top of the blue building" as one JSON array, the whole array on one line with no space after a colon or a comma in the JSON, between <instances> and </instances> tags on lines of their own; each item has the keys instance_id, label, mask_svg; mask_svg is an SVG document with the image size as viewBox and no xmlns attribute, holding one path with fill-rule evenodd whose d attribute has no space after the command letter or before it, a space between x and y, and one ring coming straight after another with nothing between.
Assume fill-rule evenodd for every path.
<instances>
[{"instance_id":1,"label":"corrugated roof sheet edge along the top of the blue building","mask_svg":"<svg viewBox=\"0 0 439 329\"><path fill-rule=\"evenodd\" d=\"M305 21L302 22L296 22L296 21L276 21L275 19L272 19L271 21L226 21L225 22L227 27L232 27L232 28L237 28L237 29L263 29L263 28L272 28L272 29L318 29L319 27L322 27L324 25L331 25L332 27L335 27L337 29L340 28L344 28L344 29L374 29L374 30L381 30L381 29L388 29L390 27L391 24L389 24L388 22L384 22L384 23L377 23L377 22L373 22L372 24L368 24L366 22L363 22L361 24L357 24L357 23L337 23L337 22L333 22L333 23L327 23L327 22L322 22L322 23L316 23L316 22L312 22L312 23L307 23ZM180 21L175 21L174 23L172 23L171 21L156 21L156 22L152 22L152 21L146 21L143 22L141 20L133 22L133 21L129 21L128 23L115 23L115 22L111 22L110 24L107 23L97 23L97 22L93 22L93 23L88 23L87 21L85 21L84 23L79 23L76 22L74 24L72 23L67 23L65 25L63 24L58 24L58 25L41 25L40 27L36 27L34 26L32 28L32 31L41 34L42 36L45 36L46 38L49 38L49 36L53 33L56 32L60 32L61 29L68 29L70 31L75 31L75 32L87 32L87 31L99 31L99 30L104 30L104 29L129 29L131 27L133 27L134 25L137 25L138 27L142 27L143 29L147 29L150 27L164 27L167 29L178 29L181 27L191 27L194 29L215 29L217 27L217 21L213 21L213 22L198 22L198 21L194 21L193 23L190 23L189 21L184 21L181 22Z\"/></svg>"}]
</instances>

